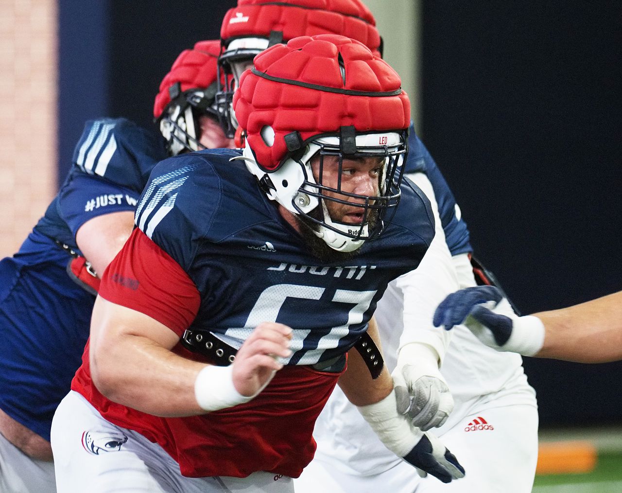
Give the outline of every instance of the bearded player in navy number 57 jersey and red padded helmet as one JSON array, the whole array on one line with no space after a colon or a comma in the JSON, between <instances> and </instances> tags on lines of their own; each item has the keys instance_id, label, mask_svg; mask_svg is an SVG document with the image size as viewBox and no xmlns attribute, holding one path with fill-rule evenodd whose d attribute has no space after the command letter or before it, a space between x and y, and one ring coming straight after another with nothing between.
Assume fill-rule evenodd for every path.
<instances>
[{"instance_id":1,"label":"bearded player in navy number 57 jersey and red padded helmet","mask_svg":"<svg viewBox=\"0 0 622 493\"><path fill-rule=\"evenodd\" d=\"M123 469L109 491L293 491L337 380L394 453L462 477L397 413L369 326L434 238L401 182L399 77L355 40L299 37L254 59L234 108L243 152L158 164L104 273L52 426L59 489Z\"/></svg>"}]
</instances>

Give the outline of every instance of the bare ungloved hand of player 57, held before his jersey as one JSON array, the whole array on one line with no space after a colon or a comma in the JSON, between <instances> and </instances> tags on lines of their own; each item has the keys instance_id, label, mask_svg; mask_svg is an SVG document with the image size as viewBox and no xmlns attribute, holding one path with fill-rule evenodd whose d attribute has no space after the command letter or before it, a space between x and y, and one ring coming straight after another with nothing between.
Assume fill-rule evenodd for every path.
<instances>
[{"instance_id":1,"label":"bare ungloved hand of player 57, held before his jersey","mask_svg":"<svg viewBox=\"0 0 622 493\"><path fill-rule=\"evenodd\" d=\"M292 354L292 329L276 322L262 322L244 341L233 362L233 385L244 396L257 395L283 365L279 358Z\"/></svg>"}]
</instances>

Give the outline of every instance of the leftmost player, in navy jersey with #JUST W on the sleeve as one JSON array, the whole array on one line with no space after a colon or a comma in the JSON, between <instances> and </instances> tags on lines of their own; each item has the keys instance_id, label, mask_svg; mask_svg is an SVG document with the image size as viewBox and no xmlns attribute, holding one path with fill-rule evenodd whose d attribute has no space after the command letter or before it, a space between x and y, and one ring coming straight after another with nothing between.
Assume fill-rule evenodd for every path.
<instances>
[{"instance_id":1,"label":"leftmost player, in navy jersey with #JUST W on the sleeve","mask_svg":"<svg viewBox=\"0 0 622 493\"><path fill-rule=\"evenodd\" d=\"M154 105L162 136L123 118L89 121L57 196L0 261L0 491L55 491L50 427L88 337L96 289L165 157L231 146L211 108L220 42L185 50ZM88 260L88 262L86 261Z\"/></svg>"}]
</instances>

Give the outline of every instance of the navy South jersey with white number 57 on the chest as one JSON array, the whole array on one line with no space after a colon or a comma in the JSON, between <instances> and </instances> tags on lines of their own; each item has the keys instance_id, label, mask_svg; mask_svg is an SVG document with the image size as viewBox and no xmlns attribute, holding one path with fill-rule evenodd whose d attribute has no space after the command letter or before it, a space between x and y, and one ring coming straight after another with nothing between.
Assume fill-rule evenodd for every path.
<instances>
[{"instance_id":1,"label":"navy South jersey with white number 57 on the chest","mask_svg":"<svg viewBox=\"0 0 622 493\"><path fill-rule=\"evenodd\" d=\"M425 195L411 182L391 224L347 261L323 262L259 190L239 151L178 156L152 173L136 223L200 293L192 327L239 347L260 322L294 329L290 365L342 354L366 330L386 285L419 265L434 237Z\"/></svg>"}]
</instances>

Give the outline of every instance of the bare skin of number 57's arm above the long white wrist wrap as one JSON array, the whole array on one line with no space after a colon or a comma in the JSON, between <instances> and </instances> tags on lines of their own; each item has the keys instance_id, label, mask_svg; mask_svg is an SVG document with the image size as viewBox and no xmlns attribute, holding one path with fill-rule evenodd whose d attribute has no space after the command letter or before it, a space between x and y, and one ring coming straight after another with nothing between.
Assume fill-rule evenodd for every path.
<instances>
[{"instance_id":1,"label":"bare skin of number 57's arm above the long white wrist wrap","mask_svg":"<svg viewBox=\"0 0 622 493\"><path fill-rule=\"evenodd\" d=\"M376 345L381 347L378 327L373 318L369 321L368 334L376 342ZM369 373L363 357L356 349L351 349L348 352L348 369L341 375L338 384L348 400L356 406L376 403L387 397L393 389L393 381L386 365L379 377L374 380L371 378L371 373Z\"/></svg>"}]
</instances>

